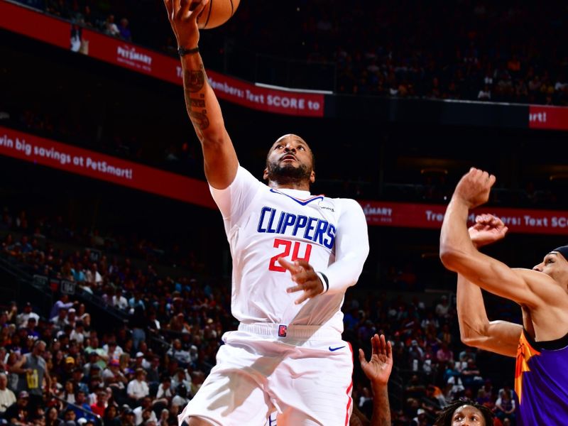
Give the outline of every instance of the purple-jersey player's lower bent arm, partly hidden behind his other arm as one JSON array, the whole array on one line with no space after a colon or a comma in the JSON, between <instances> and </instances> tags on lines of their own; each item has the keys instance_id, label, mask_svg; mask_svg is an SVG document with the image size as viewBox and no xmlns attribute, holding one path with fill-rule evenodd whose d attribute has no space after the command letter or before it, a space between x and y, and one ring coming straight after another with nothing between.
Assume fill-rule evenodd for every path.
<instances>
[{"instance_id":1,"label":"purple-jersey player's lower bent arm, partly hidden behind his other arm","mask_svg":"<svg viewBox=\"0 0 568 426\"><path fill-rule=\"evenodd\" d=\"M491 214L476 217L469 236L476 248L502 239L507 226ZM470 283L463 275L457 275L457 318L461 342L496 354L516 356L520 324L506 321L489 321L481 294L481 288Z\"/></svg>"}]
</instances>

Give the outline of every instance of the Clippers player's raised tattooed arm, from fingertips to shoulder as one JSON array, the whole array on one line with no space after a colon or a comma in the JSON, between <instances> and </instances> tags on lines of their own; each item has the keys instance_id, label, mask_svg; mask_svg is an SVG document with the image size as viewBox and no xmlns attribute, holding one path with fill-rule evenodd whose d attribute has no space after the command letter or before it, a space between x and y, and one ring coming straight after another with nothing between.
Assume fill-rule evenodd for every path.
<instances>
[{"instance_id":1,"label":"Clippers player's raised tattooed arm, from fingertips to shoulder","mask_svg":"<svg viewBox=\"0 0 568 426\"><path fill-rule=\"evenodd\" d=\"M164 3L180 48L185 106L201 141L205 177L212 187L224 189L233 182L239 161L198 50L197 16L208 1L164 0Z\"/></svg>"}]
</instances>

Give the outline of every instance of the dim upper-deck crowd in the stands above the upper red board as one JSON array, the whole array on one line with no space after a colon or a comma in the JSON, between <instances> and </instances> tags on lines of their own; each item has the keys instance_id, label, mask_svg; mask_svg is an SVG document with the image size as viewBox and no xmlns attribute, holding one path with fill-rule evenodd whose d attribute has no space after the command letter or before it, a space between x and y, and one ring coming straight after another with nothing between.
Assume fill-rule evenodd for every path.
<instances>
[{"instance_id":1,"label":"dim upper-deck crowd in the stands above the upper red board","mask_svg":"<svg viewBox=\"0 0 568 426\"><path fill-rule=\"evenodd\" d=\"M155 2L20 1L124 40L168 53L177 48ZM209 38L258 55L332 63L335 92L568 104L568 53L554 43L567 35L560 1L241 3ZM288 31L290 23L297 31ZM209 51L222 55L224 48L223 41Z\"/></svg>"}]
</instances>

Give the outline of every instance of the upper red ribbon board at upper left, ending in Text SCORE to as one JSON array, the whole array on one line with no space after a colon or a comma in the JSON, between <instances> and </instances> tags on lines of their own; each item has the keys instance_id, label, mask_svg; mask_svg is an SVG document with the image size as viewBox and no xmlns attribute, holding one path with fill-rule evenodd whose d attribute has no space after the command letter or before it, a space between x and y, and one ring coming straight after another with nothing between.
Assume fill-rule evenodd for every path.
<instances>
[{"instance_id":1,"label":"upper red ribbon board at upper left, ending in Text SCORE to","mask_svg":"<svg viewBox=\"0 0 568 426\"><path fill-rule=\"evenodd\" d=\"M180 61L124 40L0 0L0 27L151 77L182 84ZM258 87L207 71L221 99L251 109L294 116L324 116L324 95Z\"/></svg>"}]
</instances>

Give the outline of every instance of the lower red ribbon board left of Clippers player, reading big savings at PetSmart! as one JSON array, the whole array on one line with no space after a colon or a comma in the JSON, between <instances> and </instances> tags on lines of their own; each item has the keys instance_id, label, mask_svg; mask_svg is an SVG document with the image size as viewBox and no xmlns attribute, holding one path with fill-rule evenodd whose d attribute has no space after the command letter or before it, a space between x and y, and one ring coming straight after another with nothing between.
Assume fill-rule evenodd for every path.
<instances>
[{"instance_id":1,"label":"lower red ribbon board left of Clippers player, reading big savings at PetSmart!","mask_svg":"<svg viewBox=\"0 0 568 426\"><path fill-rule=\"evenodd\" d=\"M0 155L216 208L207 183L0 126Z\"/></svg>"}]
</instances>

